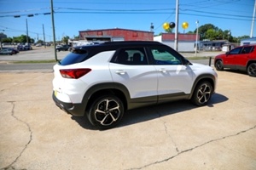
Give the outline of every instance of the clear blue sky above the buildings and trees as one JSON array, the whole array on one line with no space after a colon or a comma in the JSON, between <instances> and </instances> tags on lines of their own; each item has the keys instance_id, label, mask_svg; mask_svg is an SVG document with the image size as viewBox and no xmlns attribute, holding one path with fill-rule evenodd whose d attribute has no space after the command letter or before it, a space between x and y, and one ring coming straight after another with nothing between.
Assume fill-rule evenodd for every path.
<instances>
[{"instance_id":1,"label":"clear blue sky above the buildings and trees","mask_svg":"<svg viewBox=\"0 0 256 170\"><path fill-rule=\"evenodd\" d=\"M250 36L254 0L179 0L178 31L188 22L185 30L195 31L199 26L212 24L230 30L233 37ZM164 32L165 22L175 22L176 0L53 0L55 38L74 37L79 31L124 28L149 31L151 23L154 34ZM26 35L26 20L30 37L52 41L50 0L0 0L0 32L8 37ZM28 17L28 14L34 14ZM15 15L20 15L15 18ZM254 24L255 25L255 24ZM256 28L253 37L256 37Z\"/></svg>"}]
</instances>

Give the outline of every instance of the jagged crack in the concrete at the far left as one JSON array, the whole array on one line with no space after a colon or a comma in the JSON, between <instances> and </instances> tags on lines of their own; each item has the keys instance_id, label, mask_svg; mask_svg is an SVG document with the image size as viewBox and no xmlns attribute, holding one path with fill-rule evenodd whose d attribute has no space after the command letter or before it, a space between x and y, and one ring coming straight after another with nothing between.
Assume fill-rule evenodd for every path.
<instances>
[{"instance_id":1,"label":"jagged crack in the concrete at the far left","mask_svg":"<svg viewBox=\"0 0 256 170\"><path fill-rule=\"evenodd\" d=\"M16 119L17 121L22 122L22 123L24 123L24 124L26 125L28 131L30 132L30 139L28 140L28 142L27 142L26 145L24 146L23 150L20 151L19 156L17 156L17 157L15 158L15 161L11 162L11 163L9 164L9 166L1 168L1 170L2 170L2 169L3 169L3 170L15 169L15 167L13 167L13 165L15 164L16 161L18 161L18 159L20 158L20 156L22 156L22 154L23 154L23 152L26 150L28 144L30 144L31 141L32 141L32 130L31 130L31 127L29 126L29 124L28 124L27 122L24 122L24 121L20 120L17 116L15 116L15 101L9 101L9 103L11 103L11 104L13 105L13 108L12 108L12 111L11 111L11 116L15 117L15 119ZM25 170L25 169L23 169L23 170Z\"/></svg>"}]
</instances>

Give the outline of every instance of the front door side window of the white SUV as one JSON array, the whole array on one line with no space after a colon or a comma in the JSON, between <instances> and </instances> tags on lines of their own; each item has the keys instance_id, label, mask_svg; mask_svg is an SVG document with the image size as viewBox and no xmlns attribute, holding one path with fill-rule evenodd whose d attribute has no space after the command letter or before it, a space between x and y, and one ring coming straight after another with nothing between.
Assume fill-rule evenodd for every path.
<instances>
[{"instance_id":1,"label":"front door side window of the white SUV","mask_svg":"<svg viewBox=\"0 0 256 170\"><path fill-rule=\"evenodd\" d=\"M154 65L182 65L182 59L168 48L151 48Z\"/></svg>"}]
</instances>

